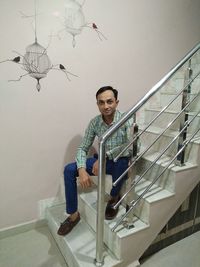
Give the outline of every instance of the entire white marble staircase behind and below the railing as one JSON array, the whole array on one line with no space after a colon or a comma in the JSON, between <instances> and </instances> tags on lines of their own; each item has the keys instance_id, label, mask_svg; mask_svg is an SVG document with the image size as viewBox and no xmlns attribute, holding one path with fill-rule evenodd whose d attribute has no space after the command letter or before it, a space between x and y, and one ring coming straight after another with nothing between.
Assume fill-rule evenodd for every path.
<instances>
[{"instance_id":1,"label":"entire white marble staircase behind and below the railing","mask_svg":"<svg viewBox=\"0 0 200 267\"><path fill-rule=\"evenodd\" d=\"M183 68L184 69L184 68ZM181 70L183 71L183 70ZM155 116L163 106L166 105L166 98L172 98L175 92L183 85L181 73L177 73L174 79L166 85L164 90L153 97L150 104L138 113L139 129L142 130L145 125ZM195 82L198 85L199 79ZM178 87L178 89L177 89ZM193 91L192 93L195 93ZM161 132L162 127L168 124L171 115L174 116L180 109L180 99L177 99L171 109L164 112L164 116L155 121L141 137L142 148L148 146L150 140ZM193 105L196 110L197 104ZM193 111L192 110L192 111ZM195 123L199 122L199 118ZM192 124L194 128L195 125ZM165 144L173 139L179 129L179 124L175 123L168 130L137 164L137 176L139 177L147 166L149 166L157 157ZM189 130L190 131L190 130ZM156 184L140 201L139 206L134 210L134 228L126 229L123 224L119 225L113 232L111 229L115 222L121 218L125 208L121 205L117 218L113 221L104 221L104 266L139 266L139 259L150 246L158 233L162 230L168 220L172 217L179 206L184 202L194 187L200 181L200 139L192 142L186 150L186 163L179 167L171 164L167 171L163 173ZM170 159L177 152L177 144L173 145L161 159L158 160L155 167L149 171L143 179L137 184L133 196L139 196L169 163ZM97 184L97 177L94 177ZM111 177L106 177L106 192L111 188ZM81 214L80 223L65 237L57 235L57 229L60 222L66 218L65 204L53 206L47 210L46 217L49 228L66 259L69 267L90 267L95 266L96 256L96 213L97 213L97 188L94 186L91 190L85 192L79 189L79 211ZM106 205L106 197L105 197Z\"/></svg>"}]
</instances>

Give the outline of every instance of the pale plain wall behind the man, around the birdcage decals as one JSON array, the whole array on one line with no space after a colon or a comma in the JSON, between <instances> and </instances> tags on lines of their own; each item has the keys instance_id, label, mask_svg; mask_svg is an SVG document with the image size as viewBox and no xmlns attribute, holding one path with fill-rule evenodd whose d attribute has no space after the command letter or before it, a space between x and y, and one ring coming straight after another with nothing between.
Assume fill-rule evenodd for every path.
<instances>
[{"instance_id":1,"label":"pale plain wall behind the man, around the birdcage decals","mask_svg":"<svg viewBox=\"0 0 200 267\"><path fill-rule=\"evenodd\" d=\"M63 28L51 14L64 15L64 0L40 0L38 42L47 46L51 32ZM32 0L0 1L0 61L24 54L34 42ZM127 110L200 40L199 0L86 0L90 29L77 36L75 48L65 32L52 38L48 55L79 78L68 82L51 71L36 81L12 62L0 64L0 228L38 218L38 201L55 197L63 167L75 150L89 119L97 114L96 90L119 89L120 109Z\"/></svg>"}]
</instances>

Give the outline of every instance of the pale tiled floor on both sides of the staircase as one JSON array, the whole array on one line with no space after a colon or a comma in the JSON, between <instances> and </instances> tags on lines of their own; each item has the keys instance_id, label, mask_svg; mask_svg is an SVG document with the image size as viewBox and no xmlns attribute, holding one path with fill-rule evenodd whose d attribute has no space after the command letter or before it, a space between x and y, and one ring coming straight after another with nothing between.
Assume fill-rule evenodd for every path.
<instances>
[{"instance_id":1,"label":"pale tiled floor on both sides of the staircase","mask_svg":"<svg viewBox=\"0 0 200 267\"><path fill-rule=\"evenodd\" d=\"M146 259L141 267L200 267L200 232ZM0 240L0 267L67 267L47 227Z\"/></svg>"}]
</instances>

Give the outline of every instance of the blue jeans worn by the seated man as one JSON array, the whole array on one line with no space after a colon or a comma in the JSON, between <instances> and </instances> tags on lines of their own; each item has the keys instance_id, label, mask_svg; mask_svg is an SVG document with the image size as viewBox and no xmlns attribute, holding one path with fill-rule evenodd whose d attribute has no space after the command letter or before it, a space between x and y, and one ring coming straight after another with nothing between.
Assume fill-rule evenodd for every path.
<instances>
[{"instance_id":1,"label":"blue jeans worn by the seated man","mask_svg":"<svg viewBox=\"0 0 200 267\"><path fill-rule=\"evenodd\" d=\"M88 158L86 161L86 171L89 175L92 173L92 167L97 157ZM129 158L121 157L114 162L113 160L106 160L106 174L112 175L112 181L115 182L117 178L128 168ZM76 162L69 163L64 169L64 182L65 182L65 199L66 199L66 211L68 214L72 214L78 209L78 196L77 196L77 183L76 177L78 176ZM121 181L110 191L111 196L117 196L121 190L122 184L127 179L127 175L121 179Z\"/></svg>"}]
</instances>

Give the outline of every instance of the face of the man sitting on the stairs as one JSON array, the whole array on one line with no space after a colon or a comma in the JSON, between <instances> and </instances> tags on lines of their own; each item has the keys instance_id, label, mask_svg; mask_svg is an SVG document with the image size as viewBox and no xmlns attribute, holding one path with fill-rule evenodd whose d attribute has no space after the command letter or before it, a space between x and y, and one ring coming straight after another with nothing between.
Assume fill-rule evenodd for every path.
<instances>
[{"instance_id":1,"label":"face of the man sitting on the stairs","mask_svg":"<svg viewBox=\"0 0 200 267\"><path fill-rule=\"evenodd\" d=\"M114 115L119 100L116 100L111 90L107 90L97 96L97 106L104 118Z\"/></svg>"}]
</instances>

